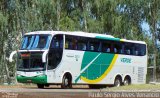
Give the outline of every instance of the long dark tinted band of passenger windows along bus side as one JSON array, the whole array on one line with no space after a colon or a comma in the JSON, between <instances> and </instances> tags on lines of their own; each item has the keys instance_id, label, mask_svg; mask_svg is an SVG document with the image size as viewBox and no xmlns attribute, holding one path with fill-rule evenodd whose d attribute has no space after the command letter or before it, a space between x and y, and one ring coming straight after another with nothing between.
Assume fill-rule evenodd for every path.
<instances>
[{"instance_id":1,"label":"long dark tinted band of passenger windows along bus side","mask_svg":"<svg viewBox=\"0 0 160 98\"><path fill-rule=\"evenodd\" d=\"M65 48L72 50L144 56L146 45L66 35Z\"/></svg>"}]
</instances>

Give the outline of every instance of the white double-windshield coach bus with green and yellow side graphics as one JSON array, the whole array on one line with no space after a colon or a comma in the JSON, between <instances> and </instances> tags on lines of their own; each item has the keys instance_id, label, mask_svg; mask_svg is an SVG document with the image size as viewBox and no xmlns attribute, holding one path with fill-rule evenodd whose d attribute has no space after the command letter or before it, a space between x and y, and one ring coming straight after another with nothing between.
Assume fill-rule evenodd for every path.
<instances>
[{"instance_id":1,"label":"white double-windshield coach bus with green and yellow side graphics","mask_svg":"<svg viewBox=\"0 0 160 98\"><path fill-rule=\"evenodd\" d=\"M23 36L10 62L13 57L17 58L17 81L38 88L146 83L147 44L143 41L80 31L35 31Z\"/></svg>"}]
</instances>

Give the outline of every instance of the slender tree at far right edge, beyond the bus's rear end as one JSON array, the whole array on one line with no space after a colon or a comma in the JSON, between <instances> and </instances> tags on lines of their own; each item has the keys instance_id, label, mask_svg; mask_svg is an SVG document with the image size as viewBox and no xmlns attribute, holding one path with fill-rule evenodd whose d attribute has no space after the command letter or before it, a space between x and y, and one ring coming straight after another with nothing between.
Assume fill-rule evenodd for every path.
<instances>
[{"instance_id":1,"label":"slender tree at far right edge, beyond the bus's rear end","mask_svg":"<svg viewBox=\"0 0 160 98\"><path fill-rule=\"evenodd\" d=\"M159 0L152 0L145 2L147 5L145 7L145 17L146 21L150 25L150 30L152 34L152 42L153 42L153 54L154 54L154 81L156 81L156 58L157 58L157 24L160 19L159 11L160 7L158 6L160 4Z\"/></svg>"}]
</instances>

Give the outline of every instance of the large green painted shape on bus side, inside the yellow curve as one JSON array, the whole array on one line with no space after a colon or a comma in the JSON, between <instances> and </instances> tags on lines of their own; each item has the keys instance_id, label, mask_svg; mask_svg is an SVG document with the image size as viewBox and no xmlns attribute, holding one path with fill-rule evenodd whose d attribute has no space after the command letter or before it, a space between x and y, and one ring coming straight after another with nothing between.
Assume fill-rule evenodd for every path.
<instances>
[{"instance_id":1,"label":"large green painted shape on bus side, inside the yellow curve","mask_svg":"<svg viewBox=\"0 0 160 98\"><path fill-rule=\"evenodd\" d=\"M83 68L88 66L88 64L98 55L97 52L85 52L82 60L81 71ZM93 56L91 59L91 56ZM109 65L111 64L115 54L109 53L101 53L83 72L81 72L80 76L77 77L75 82L80 79L81 76L89 79L95 80L108 69ZM89 58L89 59L87 59ZM88 60L88 61L87 61ZM88 63L86 63L88 62Z\"/></svg>"}]
</instances>

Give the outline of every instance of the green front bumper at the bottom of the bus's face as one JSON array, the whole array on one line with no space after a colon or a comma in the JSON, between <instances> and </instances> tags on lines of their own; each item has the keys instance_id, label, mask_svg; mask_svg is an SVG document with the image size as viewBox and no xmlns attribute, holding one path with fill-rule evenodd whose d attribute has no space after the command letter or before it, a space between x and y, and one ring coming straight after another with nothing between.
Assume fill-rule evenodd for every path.
<instances>
[{"instance_id":1,"label":"green front bumper at the bottom of the bus's face","mask_svg":"<svg viewBox=\"0 0 160 98\"><path fill-rule=\"evenodd\" d=\"M46 75L40 75L40 76L35 76L35 77L17 76L17 81L20 83L46 84L47 76Z\"/></svg>"}]
</instances>

